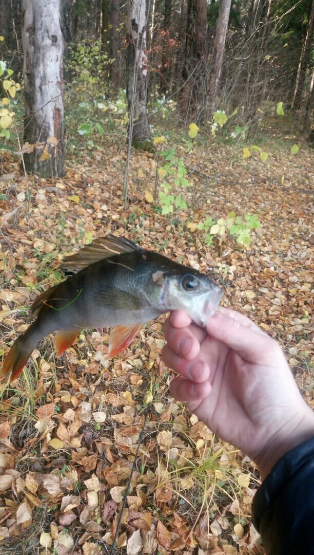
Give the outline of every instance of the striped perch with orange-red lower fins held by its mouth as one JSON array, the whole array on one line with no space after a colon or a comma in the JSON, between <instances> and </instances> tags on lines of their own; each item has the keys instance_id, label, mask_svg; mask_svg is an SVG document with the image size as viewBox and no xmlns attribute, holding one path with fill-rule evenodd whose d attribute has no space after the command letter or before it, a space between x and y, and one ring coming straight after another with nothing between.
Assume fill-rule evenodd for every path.
<instances>
[{"instance_id":1,"label":"striped perch with orange-red lower fins held by its mouth","mask_svg":"<svg viewBox=\"0 0 314 555\"><path fill-rule=\"evenodd\" d=\"M60 356L82 329L111 327L108 358L130 345L142 324L169 310L185 310L205 326L223 290L208 275L125 238L92 241L61 264L66 279L40 294L30 307L34 320L9 350L0 374L17 379L43 337L56 332Z\"/></svg>"}]
</instances>

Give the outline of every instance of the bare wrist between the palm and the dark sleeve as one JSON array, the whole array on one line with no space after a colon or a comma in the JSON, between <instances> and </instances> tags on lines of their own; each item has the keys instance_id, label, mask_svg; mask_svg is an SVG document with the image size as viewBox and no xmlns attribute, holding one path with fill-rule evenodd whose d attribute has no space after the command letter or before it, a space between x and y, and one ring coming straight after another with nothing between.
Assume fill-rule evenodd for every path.
<instances>
[{"instance_id":1,"label":"bare wrist between the palm and the dark sleeve","mask_svg":"<svg viewBox=\"0 0 314 555\"><path fill-rule=\"evenodd\" d=\"M265 447L255 457L262 480L265 480L285 453L311 437L314 437L314 413L305 406L300 415L294 415L269 438Z\"/></svg>"}]
</instances>

